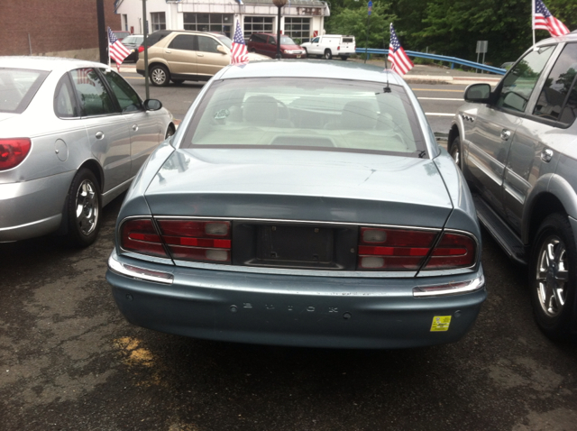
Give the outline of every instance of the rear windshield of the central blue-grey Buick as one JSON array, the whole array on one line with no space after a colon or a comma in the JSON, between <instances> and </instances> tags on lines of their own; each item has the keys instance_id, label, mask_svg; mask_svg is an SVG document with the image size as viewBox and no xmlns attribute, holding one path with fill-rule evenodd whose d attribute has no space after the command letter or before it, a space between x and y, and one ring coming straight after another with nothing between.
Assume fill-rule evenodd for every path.
<instances>
[{"instance_id":1,"label":"rear windshield of the central blue-grey Buick","mask_svg":"<svg viewBox=\"0 0 577 431\"><path fill-rule=\"evenodd\" d=\"M425 142L403 87L318 78L215 82L182 148L286 147L423 157Z\"/></svg>"}]
</instances>

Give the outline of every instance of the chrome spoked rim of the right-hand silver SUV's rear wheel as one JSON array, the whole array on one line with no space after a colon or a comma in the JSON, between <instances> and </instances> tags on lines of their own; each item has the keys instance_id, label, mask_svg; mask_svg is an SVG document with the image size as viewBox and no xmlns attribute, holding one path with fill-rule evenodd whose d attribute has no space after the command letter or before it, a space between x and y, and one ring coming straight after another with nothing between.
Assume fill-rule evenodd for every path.
<instances>
[{"instance_id":1,"label":"chrome spoked rim of the right-hand silver SUV's rear wheel","mask_svg":"<svg viewBox=\"0 0 577 431\"><path fill-rule=\"evenodd\" d=\"M567 299L569 268L567 249L556 235L549 236L537 255L537 298L546 316L559 316Z\"/></svg>"}]
</instances>

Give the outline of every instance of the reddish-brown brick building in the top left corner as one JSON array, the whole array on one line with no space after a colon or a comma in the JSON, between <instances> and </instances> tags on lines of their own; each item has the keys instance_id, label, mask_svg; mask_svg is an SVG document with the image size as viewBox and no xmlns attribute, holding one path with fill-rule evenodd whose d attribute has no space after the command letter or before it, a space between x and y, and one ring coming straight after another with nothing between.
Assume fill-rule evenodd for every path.
<instances>
[{"instance_id":1,"label":"reddish-brown brick building in the top left corner","mask_svg":"<svg viewBox=\"0 0 577 431\"><path fill-rule=\"evenodd\" d=\"M98 60L96 0L2 0L0 55L48 55ZM114 0L105 23L120 30Z\"/></svg>"}]
</instances>

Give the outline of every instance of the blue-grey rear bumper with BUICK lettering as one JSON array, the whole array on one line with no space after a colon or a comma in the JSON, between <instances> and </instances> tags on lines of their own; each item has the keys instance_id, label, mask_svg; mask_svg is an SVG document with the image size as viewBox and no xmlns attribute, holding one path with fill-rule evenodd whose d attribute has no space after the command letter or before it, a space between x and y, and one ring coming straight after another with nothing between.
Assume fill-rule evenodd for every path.
<instances>
[{"instance_id":1,"label":"blue-grey rear bumper with BUICK lettering","mask_svg":"<svg viewBox=\"0 0 577 431\"><path fill-rule=\"evenodd\" d=\"M112 271L116 262L165 271L171 284ZM452 343L470 329L487 297L472 293L415 298L413 288L472 280L357 279L209 271L138 261L112 253L106 280L116 305L137 326L212 340L336 348L404 348ZM432 332L435 316L451 316Z\"/></svg>"}]
</instances>

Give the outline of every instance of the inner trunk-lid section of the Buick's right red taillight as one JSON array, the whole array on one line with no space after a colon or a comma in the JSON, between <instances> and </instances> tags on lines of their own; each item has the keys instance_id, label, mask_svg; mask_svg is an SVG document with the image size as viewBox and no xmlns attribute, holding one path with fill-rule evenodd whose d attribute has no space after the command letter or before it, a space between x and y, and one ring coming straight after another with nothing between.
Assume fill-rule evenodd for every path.
<instances>
[{"instance_id":1,"label":"inner trunk-lid section of the Buick's right red taillight","mask_svg":"<svg viewBox=\"0 0 577 431\"><path fill-rule=\"evenodd\" d=\"M435 241L435 232L361 228L359 270L417 271Z\"/></svg>"}]
</instances>

